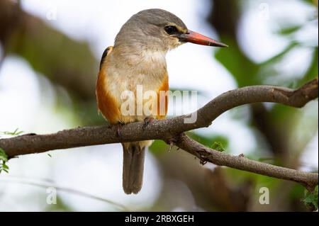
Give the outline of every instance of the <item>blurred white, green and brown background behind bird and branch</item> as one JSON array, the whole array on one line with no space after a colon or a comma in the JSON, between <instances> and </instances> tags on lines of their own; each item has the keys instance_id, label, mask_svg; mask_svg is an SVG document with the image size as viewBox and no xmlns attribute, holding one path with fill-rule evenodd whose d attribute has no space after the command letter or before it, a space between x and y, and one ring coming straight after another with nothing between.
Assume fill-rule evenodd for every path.
<instances>
[{"instance_id":1,"label":"blurred white, green and brown background behind bird and branch","mask_svg":"<svg viewBox=\"0 0 319 226\"><path fill-rule=\"evenodd\" d=\"M16 128L105 125L94 91L100 57L130 16L150 8L171 11L189 29L230 45L186 44L168 53L170 87L198 91L190 112L237 87L295 89L318 76L318 0L0 0L1 138ZM189 135L207 146L221 142L230 154L318 171L318 101L302 109L242 106ZM122 190L120 144L48 153L9 161L9 174L0 174L1 211L307 210L297 183L202 166L182 150L167 152L162 141L147 152L136 196ZM47 204L51 186L55 205ZM262 187L269 188L269 205L259 203Z\"/></svg>"}]
</instances>

